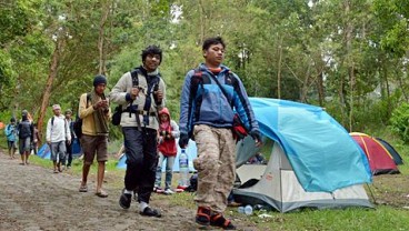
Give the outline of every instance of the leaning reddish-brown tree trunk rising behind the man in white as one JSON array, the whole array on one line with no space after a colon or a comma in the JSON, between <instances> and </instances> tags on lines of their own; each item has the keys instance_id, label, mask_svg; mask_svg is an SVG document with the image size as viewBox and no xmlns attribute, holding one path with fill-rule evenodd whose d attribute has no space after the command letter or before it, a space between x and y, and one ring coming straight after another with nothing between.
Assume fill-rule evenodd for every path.
<instances>
[{"instance_id":1,"label":"leaning reddish-brown tree trunk rising behind the man in white","mask_svg":"<svg viewBox=\"0 0 409 231\"><path fill-rule=\"evenodd\" d=\"M52 52L50 71L49 71L46 88L44 88L44 91L43 91L43 94L42 94L40 112L39 112L39 116L38 116L38 119L37 119L38 130L39 130L39 135L40 137L42 137L42 127L43 127L47 106L50 102L52 82L57 77L58 66L59 66L59 61L60 61L61 47L62 47L62 40L58 39L57 42L56 42L54 51Z\"/></svg>"}]
</instances>

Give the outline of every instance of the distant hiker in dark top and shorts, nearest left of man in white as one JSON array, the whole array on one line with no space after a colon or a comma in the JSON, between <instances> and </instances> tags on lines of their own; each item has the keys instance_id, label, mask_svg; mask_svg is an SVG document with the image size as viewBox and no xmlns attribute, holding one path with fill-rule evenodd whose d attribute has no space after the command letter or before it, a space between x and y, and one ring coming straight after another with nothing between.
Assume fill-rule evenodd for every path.
<instances>
[{"instance_id":1,"label":"distant hiker in dark top and shorts, nearest left of man in white","mask_svg":"<svg viewBox=\"0 0 409 231\"><path fill-rule=\"evenodd\" d=\"M29 112L22 110L21 121L18 125L19 133L19 150L22 165L29 164L29 157L31 151L31 141L33 140L34 129L32 122L29 120Z\"/></svg>"}]
</instances>

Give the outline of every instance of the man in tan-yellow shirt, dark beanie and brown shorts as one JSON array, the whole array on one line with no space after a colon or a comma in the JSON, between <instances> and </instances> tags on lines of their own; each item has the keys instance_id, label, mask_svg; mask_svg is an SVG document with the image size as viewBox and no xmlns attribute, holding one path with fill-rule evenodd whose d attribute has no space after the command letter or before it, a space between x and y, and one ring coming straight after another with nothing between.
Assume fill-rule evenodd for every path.
<instances>
[{"instance_id":1,"label":"man in tan-yellow shirt, dark beanie and brown shorts","mask_svg":"<svg viewBox=\"0 0 409 231\"><path fill-rule=\"evenodd\" d=\"M111 111L109 101L103 91L107 88L107 78L98 74L93 78L93 90L83 93L80 98L79 117L82 119L81 147L83 150L82 181L79 191L87 192L87 180L90 167L97 155L98 173L96 195L107 198L102 190L106 161L108 160L108 133Z\"/></svg>"}]
</instances>

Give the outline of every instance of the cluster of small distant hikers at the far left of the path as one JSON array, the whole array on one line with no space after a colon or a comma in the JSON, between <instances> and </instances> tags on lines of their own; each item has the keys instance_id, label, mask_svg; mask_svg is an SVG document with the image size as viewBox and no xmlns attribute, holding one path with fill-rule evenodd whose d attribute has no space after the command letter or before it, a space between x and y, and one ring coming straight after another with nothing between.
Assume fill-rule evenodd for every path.
<instances>
[{"instance_id":1,"label":"cluster of small distant hikers at the far left of the path","mask_svg":"<svg viewBox=\"0 0 409 231\"><path fill-rule=\"evenodd\" d=\"M33 123L30 113L22 110L21 120L10 119L10 123L4 128L9 157L14 159L16 151L19 150L21 165L29 164L29 157L33 151L37 154L38 142L40 141L37 125Z\"/></svg>"}]
</instances>

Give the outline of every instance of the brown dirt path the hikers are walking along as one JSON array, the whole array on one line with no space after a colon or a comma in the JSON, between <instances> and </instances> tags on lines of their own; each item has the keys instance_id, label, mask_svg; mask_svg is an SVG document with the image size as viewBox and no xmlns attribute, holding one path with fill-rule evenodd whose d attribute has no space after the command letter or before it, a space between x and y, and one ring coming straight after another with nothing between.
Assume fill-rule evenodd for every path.
<instances>
[{"instance_id":1,"label":"brown dirt path the hikers are walking along","mask_svg":"<svg viewBox=\"0 0 409 231\"><path fill-rule=\"evenodd\" d=\"M197 230L194 211L171 207L168 200L153 195L151 204L162 218L146 218L118 205L118 189L106 190L109 197L78 192L80 178L52 173L33 164L20 165L0 152L0 230ZM255 230L246 229L245 230Z\"/></svg>"}]
</instances>

